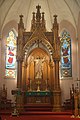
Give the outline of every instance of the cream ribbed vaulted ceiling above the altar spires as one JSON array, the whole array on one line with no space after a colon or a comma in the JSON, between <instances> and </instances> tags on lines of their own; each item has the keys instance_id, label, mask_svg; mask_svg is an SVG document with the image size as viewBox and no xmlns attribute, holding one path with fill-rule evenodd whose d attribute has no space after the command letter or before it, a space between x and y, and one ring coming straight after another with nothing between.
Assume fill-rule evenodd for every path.
<instances>
[{"instance_id":1,"label":"cream ribbed vaulted ceiling above the altar spires","mask_svg":"<svg viewBox=\"0 0 80 120\"><path fill-rule=\"evenodd\" d=\"M53 15L58 15L58 22L69 21L75 29L78 25L80 12L80 0L0 0L0 28L10 21L19 22L19 15L24 15L26 30L30 29L32 12L36 12L36 6L41 6L41 12L45 12L46 27L52 28Z\"/></svg>"}]
</instances>

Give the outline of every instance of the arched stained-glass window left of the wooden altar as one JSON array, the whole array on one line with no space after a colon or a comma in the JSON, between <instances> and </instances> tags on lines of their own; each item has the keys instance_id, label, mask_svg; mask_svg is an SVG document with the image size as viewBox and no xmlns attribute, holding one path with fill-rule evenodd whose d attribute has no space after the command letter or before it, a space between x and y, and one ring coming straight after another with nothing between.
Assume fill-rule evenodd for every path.
<instances>
[{"instance_id":1,"label":"arched stained-glass window left of the wooden altar","mask_svg":"<svg viewBox=\"0 0 80 120\"><path fill-rule=\"evenodd\" d=\"M6 37L6 64L5 77L15 78L16 76L16 34L13 30Z\"/></svg>"}]
</instances>

